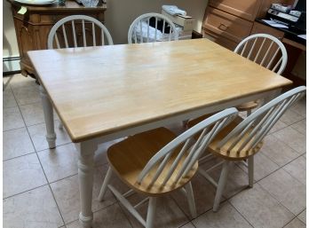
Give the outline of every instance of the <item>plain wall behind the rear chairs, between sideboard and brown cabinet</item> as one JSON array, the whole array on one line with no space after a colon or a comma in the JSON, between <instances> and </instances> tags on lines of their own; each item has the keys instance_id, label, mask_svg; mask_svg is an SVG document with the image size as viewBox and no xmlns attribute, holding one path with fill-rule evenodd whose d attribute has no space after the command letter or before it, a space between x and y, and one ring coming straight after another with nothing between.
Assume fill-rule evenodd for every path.
<instances>
[{"instance_id":1,"label":"plain wall behind the rear chairs, between sideboard and brown cabinet","mask_svg":"<svg viewBox=\"0 0 309 228\"><path fill-rule=\"evenodd\" d=\"M162 4L175 4L195 18L195 30L200 32L208 0L107 0L106 26L114 43L128 43L131 22L146 12L161 12Z\"/></svg>"}]
</instances>

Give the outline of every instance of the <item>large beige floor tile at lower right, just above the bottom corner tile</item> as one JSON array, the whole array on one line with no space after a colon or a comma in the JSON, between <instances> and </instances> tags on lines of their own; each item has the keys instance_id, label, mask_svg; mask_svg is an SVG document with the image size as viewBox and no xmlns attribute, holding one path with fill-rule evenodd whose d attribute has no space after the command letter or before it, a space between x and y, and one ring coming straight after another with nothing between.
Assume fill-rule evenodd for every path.
<instances>
[{"instance_id":1,"label":"large beige floor tile at lower right, just above the bottom corner tile","mask_svg":"<svg viewBox=\"0 0 309 228\"><path fill-rule=\"evenodd\" d=\"M305 209L305 185L284 169L275 171L258 183L294 215L297 216Z\"/></svg>"}]
</instances>

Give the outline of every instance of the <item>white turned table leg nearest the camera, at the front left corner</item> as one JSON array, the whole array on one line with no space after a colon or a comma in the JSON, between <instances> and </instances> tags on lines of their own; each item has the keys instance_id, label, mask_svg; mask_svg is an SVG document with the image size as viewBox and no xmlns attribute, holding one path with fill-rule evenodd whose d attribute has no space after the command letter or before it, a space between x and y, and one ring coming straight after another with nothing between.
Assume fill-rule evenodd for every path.
<instances>
[{"instance_id":1,"label":"white turned table leg nearest the camera, at the front left corner","mask_svg":"<svg viewBox=\"0 0 309 228\"><path fill-rule=\"evenodd\" d=\"M92 205L92 186L93 186L93 170L94 170L94 152L98 145L92 141L85 141L76 144L79 152L78 160L78 179L79 192L81 199L81 213L79 221L83 224L83 228L90 228L93 219L91 210Z\"/></svg>"}]
</instances>

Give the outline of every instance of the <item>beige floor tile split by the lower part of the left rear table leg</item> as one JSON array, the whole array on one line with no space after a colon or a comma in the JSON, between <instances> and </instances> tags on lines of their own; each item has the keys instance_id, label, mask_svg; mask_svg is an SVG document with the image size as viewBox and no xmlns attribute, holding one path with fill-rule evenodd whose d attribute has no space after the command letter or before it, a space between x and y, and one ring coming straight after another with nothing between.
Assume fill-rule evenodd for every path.
<instances>
[{"instance_id":1,"label":"beige floor tile split by the lower part of the left rear table leg","mask_svg":"<svg viewBox=\"0 0 309 228\"><path fill-rule=\"evenodd\" d=\"M71 142L71 139L67 135L67 131L63 129L59 129L59 121L55 121L55 133L57 135L56 145L64 145ZM36 147L36 151L42 151L49 148L48 143L46 141L46 128L45 123L36 124L28 127L30 137Z\"/></svg>"}]
</instances>

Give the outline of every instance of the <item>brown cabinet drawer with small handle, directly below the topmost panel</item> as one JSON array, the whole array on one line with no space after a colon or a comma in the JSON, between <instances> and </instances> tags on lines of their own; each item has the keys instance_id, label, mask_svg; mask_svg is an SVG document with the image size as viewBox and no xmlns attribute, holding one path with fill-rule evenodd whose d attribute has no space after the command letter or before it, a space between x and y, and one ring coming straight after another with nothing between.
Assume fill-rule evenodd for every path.
<instances>
[{"instance_id":1,"label":"brown cabinet drawer with small handle, directly below the topmost panel","mask_svg":"<svg viewBox=\"0 0 309 228\"><path fill-rule=\"evenodd\" d=\"M208 7L202 27L235 43L240 43L243 38L250 35L252 25L253 23L248 20Z\"/></svg>"}]
</instances>

